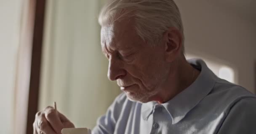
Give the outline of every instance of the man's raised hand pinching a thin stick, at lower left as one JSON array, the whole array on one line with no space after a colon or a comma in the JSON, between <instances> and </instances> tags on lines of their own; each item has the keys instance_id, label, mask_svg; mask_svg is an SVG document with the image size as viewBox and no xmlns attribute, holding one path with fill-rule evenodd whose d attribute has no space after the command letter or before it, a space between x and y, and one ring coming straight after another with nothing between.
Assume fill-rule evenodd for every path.
<instances>
[{"instance_id":1,"label":"man's raised hand pinching a thin stick, at lower left","mask_svg":"<svg viewBox=\"0 0 256 134\"><path fill-rule=\"evenodd\" d=\"M61 134L63 128L74 128L74 124L52 106L37 112L33 124L34 134Z\"/></svg>"}]
</instances>

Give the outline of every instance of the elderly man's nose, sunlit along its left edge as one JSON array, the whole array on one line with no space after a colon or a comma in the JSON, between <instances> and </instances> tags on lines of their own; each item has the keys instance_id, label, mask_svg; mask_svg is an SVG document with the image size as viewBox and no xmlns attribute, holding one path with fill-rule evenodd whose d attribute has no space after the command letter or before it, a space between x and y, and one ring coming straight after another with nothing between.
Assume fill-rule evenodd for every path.
<instances>
[{"instance_id":1,"label":"elderly man's nose, sunlit along its left edge","mask_svg":"<svg viewBox=\"0 0 256 134\"><path fill-rule=\"evenodd\" d=\"M115 59L114 57L109 57L109 68L107 72L107 77L109 80L117 80L120 77L125 76L126 72L122 68L122 63Z\"/></svg>"}]
</instances>

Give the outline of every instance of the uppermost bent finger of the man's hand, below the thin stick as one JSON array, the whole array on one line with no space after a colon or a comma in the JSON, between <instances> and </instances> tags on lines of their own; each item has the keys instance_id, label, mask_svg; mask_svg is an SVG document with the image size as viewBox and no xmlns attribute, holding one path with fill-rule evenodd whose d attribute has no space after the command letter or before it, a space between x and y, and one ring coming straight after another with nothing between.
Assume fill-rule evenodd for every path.
<instances>
[{"instance_id":1,"label":"uppermost bent finger of the man's hand, below the thin stick","mask_svg":"<svg viewBox=\"0 0 256 134\"><path fill-rule=\"evenodd\" d=\"M46 120L51 124L53 130L57 134L61 134L61 129L63 129L63 124L59 119L58 112L53 107L47 107L44 111Z\"/></svg>"}]
</instances>

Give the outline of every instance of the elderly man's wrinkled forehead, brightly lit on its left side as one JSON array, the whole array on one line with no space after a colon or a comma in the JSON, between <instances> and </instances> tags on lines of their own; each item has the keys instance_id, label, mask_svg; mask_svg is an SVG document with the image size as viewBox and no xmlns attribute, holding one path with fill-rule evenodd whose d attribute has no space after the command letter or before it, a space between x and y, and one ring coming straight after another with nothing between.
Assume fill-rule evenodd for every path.
<instances>
[{"instance_id":1,"label":"elderly man's wrinkled forehead, brightly lit on its left side","mask_svg":"<svg viewBox=\"0 0 256 134\"><path fill-rule=\"evenodd\" d=\"M101 47L109 49L133 49L141 44L131 21L121 21L101 27Z\"/></svg>"}]
</instances>

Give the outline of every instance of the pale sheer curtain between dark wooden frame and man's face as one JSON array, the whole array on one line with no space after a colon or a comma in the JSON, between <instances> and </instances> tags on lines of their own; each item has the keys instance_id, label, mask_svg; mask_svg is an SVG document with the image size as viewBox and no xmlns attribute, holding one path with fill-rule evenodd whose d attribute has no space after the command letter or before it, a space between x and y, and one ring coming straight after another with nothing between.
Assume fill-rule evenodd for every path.
<instances>
[{"instance_id":1,"label":"pale sheer curtain between dark wooden frame and man's face","mask_svg":"<svg viewBox=\"0 0 256 134\"><path fill-rule=\"evenodd\" d=\"M120 93L107 79L97 23L101 0L48 0L40 106L53 105L76 127L93 128Z\"/></svg>"}]
</instances>

